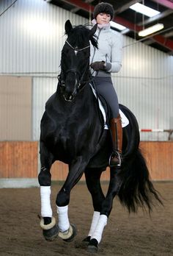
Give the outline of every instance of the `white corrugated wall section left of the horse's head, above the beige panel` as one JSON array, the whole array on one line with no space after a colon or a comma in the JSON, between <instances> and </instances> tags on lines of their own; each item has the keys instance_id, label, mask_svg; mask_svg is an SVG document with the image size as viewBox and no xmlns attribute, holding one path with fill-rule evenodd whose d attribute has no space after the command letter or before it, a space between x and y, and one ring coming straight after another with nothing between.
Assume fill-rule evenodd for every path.
<instances>
[{"instance_id":1,"label":"white corrugated wall section left of the horse's head, above the beige panel","mask_svg":"<svg viewBox=\"0 0 173 256\"><path fill-rule=\"evenodd\" d=\"M0 6L7 4L0 1ZM86 22L43 0L17 1L0 19L0 72L57 72L67 19Z\"/></svg>"}]
</instances>

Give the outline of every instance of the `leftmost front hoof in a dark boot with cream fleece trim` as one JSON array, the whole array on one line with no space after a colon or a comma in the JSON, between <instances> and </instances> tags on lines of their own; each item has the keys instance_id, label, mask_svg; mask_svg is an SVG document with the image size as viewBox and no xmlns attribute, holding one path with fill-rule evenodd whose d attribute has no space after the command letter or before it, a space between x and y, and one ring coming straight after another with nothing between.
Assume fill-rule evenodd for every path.
<instances>
[{"instance_id":1,"label":"leftmost front hoof in a dark boot with cream fleece trim","mask_svg":"<svg viewBox=\"0 0 173 256\"><path fill-rule=\"evenodd\" d=\"M43 236L46 241L53 241L59 234L59 227L56 225L55 218L51 218L50 224L44 224L44 219L41 218L40 227L43 229Z\"/></svg>"}]
</instances>

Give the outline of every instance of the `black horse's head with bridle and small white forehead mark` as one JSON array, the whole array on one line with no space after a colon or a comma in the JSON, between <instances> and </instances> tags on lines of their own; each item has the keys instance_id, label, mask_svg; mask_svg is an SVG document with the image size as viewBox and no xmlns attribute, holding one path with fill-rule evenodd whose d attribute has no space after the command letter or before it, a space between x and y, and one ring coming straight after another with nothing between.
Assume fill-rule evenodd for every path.
<instances>
[{"instance_id":1,"label":"black horse's head with bridle and small white forehead mark","mask_svg":"<svg viewBox=\"0 0 173 256\"><path fill-rule=\"evenodd\" d=\"M69 20L65 23L67 40L62 49L59 85L66 101L71 102L89 80L89 41L97 47L94 38L96 29L97 25L88 29L81 25L73 28Z\"/></svg>"}]
</instances>

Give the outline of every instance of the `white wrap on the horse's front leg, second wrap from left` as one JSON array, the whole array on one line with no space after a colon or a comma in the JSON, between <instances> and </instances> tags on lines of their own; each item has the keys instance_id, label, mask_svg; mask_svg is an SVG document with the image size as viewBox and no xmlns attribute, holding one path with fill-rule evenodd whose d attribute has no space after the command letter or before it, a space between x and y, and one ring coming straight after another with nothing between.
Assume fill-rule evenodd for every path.
<instances>
[{"instance_id":1,"label":"white wrap on the horse's front leg, second wrap from left","mask_svg":"<svg viewBox=\"0 0 173 256\"><path fill-rule=\"evenodd\" d=\"M70 222L68 219L68 205L66 206L57 206L57 213L59 214L59 230L65 232L70 227Z\"/></svg>"}]
</instances>

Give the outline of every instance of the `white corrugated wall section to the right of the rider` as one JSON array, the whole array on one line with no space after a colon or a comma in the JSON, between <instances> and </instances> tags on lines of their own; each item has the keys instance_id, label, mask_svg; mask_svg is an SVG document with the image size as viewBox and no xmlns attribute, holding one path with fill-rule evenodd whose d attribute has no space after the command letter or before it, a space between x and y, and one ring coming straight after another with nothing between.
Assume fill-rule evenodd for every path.
<instances>
[{"instance_id":1,"label":"white corrugated wall section to the right of the rider","mask_svg":"<svg viewBox=\"0 0 173 256\"><path fill-rule=\"evenodd\" d=\"M113 74L119 103L136 115L141 129L173 129L173 57L124 38L122 70ZM143 132L141 140L167 140L167 133Z\"/></svg>"}]
</instances>

